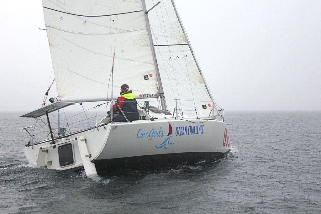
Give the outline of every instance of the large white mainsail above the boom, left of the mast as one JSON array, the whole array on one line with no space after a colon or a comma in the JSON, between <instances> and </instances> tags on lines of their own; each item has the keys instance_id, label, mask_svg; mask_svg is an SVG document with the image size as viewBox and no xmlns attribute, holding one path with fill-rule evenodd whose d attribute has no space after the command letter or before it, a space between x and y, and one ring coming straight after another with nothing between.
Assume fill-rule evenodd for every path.
<instances>
[{"instance_id":1,"label":"large white mainsail above the boom, left of the mast","mask_svg":"<svg viewBox=\"0 0 321 214\"><path fill-rule=\"evenodd\" d=\"M43 0L42 3L60 97L93 99L110 95L114 51L114 96L125 83L135 94L157 92L140 2Z\"/></svg>"}]
</instances>

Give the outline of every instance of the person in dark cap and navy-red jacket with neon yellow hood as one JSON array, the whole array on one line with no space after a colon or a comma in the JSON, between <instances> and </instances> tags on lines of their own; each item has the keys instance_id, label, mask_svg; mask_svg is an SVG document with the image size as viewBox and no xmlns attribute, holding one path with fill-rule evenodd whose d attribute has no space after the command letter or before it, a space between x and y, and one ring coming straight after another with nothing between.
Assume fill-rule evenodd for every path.
<instances>
[{"instance_id":1,"label":"person in dark cap and navy-red jacket with neon yellow hood","mask_svg":"<svg viewBox=\"0 0 321 214\"><path fill-rule=\"evenodd\" d=\"M115 112L117 111L123 111L125 116L129 121L138 120L139 119L139 113L137 111L137 101L135 99L135 96L133 94L132 90L129 90L129 87L127 84L124 84L120 88L120 95L117 98L117 104L115 103L113 105L113 110ZM117 116L115 116L112 119L113 122L127 122L124 115L120 112Z\"/></svg>"}]
</instances>

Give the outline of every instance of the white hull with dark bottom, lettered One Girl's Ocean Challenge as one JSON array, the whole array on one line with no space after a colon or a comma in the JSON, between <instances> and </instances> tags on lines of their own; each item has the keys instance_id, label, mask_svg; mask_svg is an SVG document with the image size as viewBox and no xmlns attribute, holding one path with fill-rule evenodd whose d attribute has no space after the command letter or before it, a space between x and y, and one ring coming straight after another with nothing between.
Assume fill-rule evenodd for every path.
<instances>
[{"instance_id":1,"label":"white hull with dark bottom, lettered One Girl's Ocean Challenge","mask_svg":"<svg viewBox=\"0 0 321 214\"><path fill-rule=\"evenodd\" d=\"M78 169L84 158L103 171L155 163L161 167L222 157L230 150L226 132L227 124L218 120L139 120L104 124L57 139L55 144L48 141L28 146L24 152L32 166L56 170ZM159 164L159 160L164 162Z\"/></svg>"}]
</instances>

